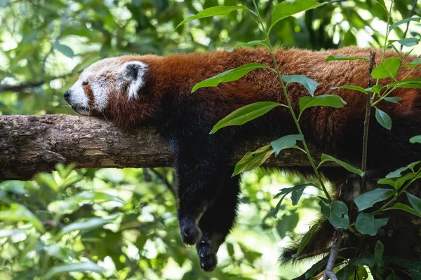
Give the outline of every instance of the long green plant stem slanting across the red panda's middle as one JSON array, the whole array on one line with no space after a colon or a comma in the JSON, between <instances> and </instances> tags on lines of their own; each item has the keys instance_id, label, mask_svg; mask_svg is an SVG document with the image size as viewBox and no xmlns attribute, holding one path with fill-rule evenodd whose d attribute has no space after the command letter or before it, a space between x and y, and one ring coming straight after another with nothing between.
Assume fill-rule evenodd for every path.
<instances>
[{"instance_id":1,"label":"long green plant stem slanting across the red panda's middle","mask_svg":"<svg viewBox=\"0 0 421 280\"><path fill-rule=\"evenodd\" d=\"M279 83L281 83L281 87L282 87L282 90L283 90L283 94L285 95L285 99L286 99L286 103L288 105L288 109L290 110L291 116L293 117L295 127L297 127L298 133L302 134L300 123L298 123L298 118L297 118L297 116L295 116L293 106L292 106L292 104L290 102L290 98L288 96L288 91L286 89L286 85L285 85L285 83L283 83L281 71L279 71L279 65L278 65L278 62L276 61L274 50L272 48L272 43L270 43L269 34L266 32L265 25L263 23L262 18L260 17L258 5L256 4L255 0L253 0L253 4L255 6L256 14L258 15L258 18L260 20L260 25L262 26L263 32L266 35L266 38L267 38L267 41L268 41L267 48L269 49L270 55L272 56L272 60L273 60L274 65L275 65L275 71L276 71L276 74L279 78ZM330 198L330 195L328 193L328 190L326 189L326 186L324 186L323 179L321 178L321 174L320 174L319 170L316 168L316 165L314 164L314 160L312 158L312 155L310 154L310 151L309 151L309 148L307 146L307 142L305 141L305 138L302 139L302 146L304 147L304 150L305 150L305 153L307 155L307 158L309 159L310 165L312 165L312 168L314 170L314 174L316 174L316 177L319 180L320 186L323 189L323 193L325 193L326 198L329 201L331 201L332 199Z\"/></svg>"}]
</instances>

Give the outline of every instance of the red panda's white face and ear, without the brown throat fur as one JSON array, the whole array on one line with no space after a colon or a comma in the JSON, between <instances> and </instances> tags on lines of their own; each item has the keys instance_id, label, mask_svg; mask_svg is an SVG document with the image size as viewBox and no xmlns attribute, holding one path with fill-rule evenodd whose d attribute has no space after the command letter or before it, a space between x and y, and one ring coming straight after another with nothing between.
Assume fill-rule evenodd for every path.
<instances>
[{"instance_id":1,"label":"red panda's white face and ear, without the brown throat fur","mask_svg":"<svg viewBox=\"0 0 421 280\"><path fill-rule=\"evenodd\" d=\"M83 116L105 116L112 99L138 99L147 65L135 58L138 57L112 57L95 62L65 92L66 101Z\"/></svg>"}]
</instances>

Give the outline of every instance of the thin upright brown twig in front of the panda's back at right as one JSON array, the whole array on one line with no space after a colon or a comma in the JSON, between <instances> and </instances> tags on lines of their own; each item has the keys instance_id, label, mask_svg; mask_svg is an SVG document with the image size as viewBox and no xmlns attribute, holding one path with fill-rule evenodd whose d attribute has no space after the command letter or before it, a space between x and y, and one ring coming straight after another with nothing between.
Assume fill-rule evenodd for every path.
<instances>
[{"instance_id":1,"label":"thin upright brown twig in front of the panda's back at right","mask_svg":"<svg viewBox=\"0 0 421 280\"><path fill-rule=\"evenodd\" d=\"M368 69L368 87L372 86L373 79L371 78L371 71L375 68L375 51L370 51L370 68ZM361 178L361 187L366 183L366 169L367 169L367 149L368 149L368 128L370 127L370 112L371 112L371 92L367 92L366 102L366 116L364 117L364 134L363 134L363 155L361 157L361 170L364 172Z\"/></svg>"}]
</instances>

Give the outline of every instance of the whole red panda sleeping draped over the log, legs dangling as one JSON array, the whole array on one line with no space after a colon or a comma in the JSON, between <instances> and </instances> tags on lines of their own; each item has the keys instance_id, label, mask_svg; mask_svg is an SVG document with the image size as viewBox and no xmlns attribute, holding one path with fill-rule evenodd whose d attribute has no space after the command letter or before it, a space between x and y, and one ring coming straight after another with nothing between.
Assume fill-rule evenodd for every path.
<instances>
[{"instance_id":1,"label":"whole red panda sleeping draped over the log, legs dangling","mask_svg":"<svg viewBox=\"0 0 421 280\"><path fill-rule=\"evenodd\" d=\"M352 90L333 90L340 85L366 87L368 63L364 61L325 62L328 55L369 57L368 48L342 48L312 52L277 50L281 73L300 74L320 83L318 94L339 94L347 105L342 109L313 107L300 119L309 143L334 151L342 160L357 161L361 156L366 96ZM387 52L385 57L396 56ZM376 60L380 62L381 52ZM408 63L415 57L406 57ZM239 176L231 177L229 159L234 144L266 135L277 139L296 134L287 109L279 107L242 126L225 127L209 134L213 125L241 106L260 101L286 103L276 73L257 69L243 78L218 87L192 87L223 71L250 62L273 67L272 57L263 49L233 52L156 55L126 55L103 59L89 66L79 80L65 92L72 108L86 116L100 116L125 128L156 125L175 153L179 179L178 220L182 241L196 244L202 269L211 271L218 248L234 224L239 196ZM403 68L403 78L410 69ZM411 76L421 76L415 71ZM389 83L389 80L380 80ZM298 84L288 85L293 108L299 110L300 97L308 94ZM408 162L420 160L420 145L408 139L421 132L421 94L417 89L396 89L401 105L378 105L393 120L391 131L375 121L370 125L368 166L387 172ZM390 160L390 159L394 160ZM338 188L339 189L339 188ZM358 195L353 194L353 195ZM326 243L326 242L325 242ZM312 246L309 246L312 248Z\"/></svg>"}]
</instances>

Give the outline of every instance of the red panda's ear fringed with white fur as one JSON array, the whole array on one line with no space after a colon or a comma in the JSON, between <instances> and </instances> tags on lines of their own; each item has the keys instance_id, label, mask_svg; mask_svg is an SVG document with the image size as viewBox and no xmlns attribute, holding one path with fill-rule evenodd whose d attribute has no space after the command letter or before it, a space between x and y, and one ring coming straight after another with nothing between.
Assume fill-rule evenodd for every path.
<instances>
[{"instance_id":1,"label":"red panda's ear fringed with white fur","mask_svg":"<svg viewBox=\"0 0 421 280\"><path fill-rule=\"evenodd\" d=\"M128 86L128 99L138 98L140 87L145 83L147 65L139 61L126 62L122 66L123 77L130 83Z\"/></svg>"}]
</instances>

